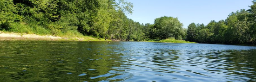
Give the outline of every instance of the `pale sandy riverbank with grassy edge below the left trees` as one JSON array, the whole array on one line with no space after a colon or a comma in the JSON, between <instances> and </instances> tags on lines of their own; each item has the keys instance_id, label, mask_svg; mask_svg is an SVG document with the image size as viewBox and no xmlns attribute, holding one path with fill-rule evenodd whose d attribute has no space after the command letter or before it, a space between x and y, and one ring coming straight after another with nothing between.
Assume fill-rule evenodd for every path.
<instances>
[{"instance_id":1,"label":"pale sandy riverbank with grassy edge below the left trees","mask_svg":"<svg viewBox=\"0 0 256 82\"><path fill-rule=\"evenodd\" d=\"M52 35L36 35L27 33L14 33L14 32L1 32L0 40L67 40L67 41L105 41L101 38L93 38L90 36L74 37L74 38L64 38ZM111 40L107 40L111 41Z\"/></svg>"}]
</instances>

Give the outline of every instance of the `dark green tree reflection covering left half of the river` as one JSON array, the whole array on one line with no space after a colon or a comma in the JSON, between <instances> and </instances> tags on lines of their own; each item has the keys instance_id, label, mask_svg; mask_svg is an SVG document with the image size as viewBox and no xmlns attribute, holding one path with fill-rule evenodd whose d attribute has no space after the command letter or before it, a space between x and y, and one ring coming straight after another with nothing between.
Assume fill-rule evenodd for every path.
<instances>
[{"instance_id":1,"label":"dark green tree reflection covering left half of the river","mask_svg":"<svg viewBox=\"0 0 256 82\"><path fill-rule=\"evenodd\" d=\"M0 80L103 81L125 74L116 53L115 44L98 42L6 41L0 44Z\"/></svg>"}]
</instances>

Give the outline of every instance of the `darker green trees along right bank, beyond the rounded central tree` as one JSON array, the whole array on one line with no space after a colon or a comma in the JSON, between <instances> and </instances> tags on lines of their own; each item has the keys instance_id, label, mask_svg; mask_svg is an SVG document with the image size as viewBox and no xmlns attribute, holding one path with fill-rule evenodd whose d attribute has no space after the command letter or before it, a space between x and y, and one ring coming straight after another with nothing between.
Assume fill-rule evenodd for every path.
<instances>
[{"instance_id":1,"label":"darker green trees along right bank, beyond the rounded central tree","mask_svg":"<svg viewBox=\"0 0 256 82\"><path fill-rule=\"evenodd\" d=\"M191 23L186 40L211 44L256 44L256 0L249 10L229 14L225 20L212 20L208 25Z\"/></svg>"}]
</instances>

